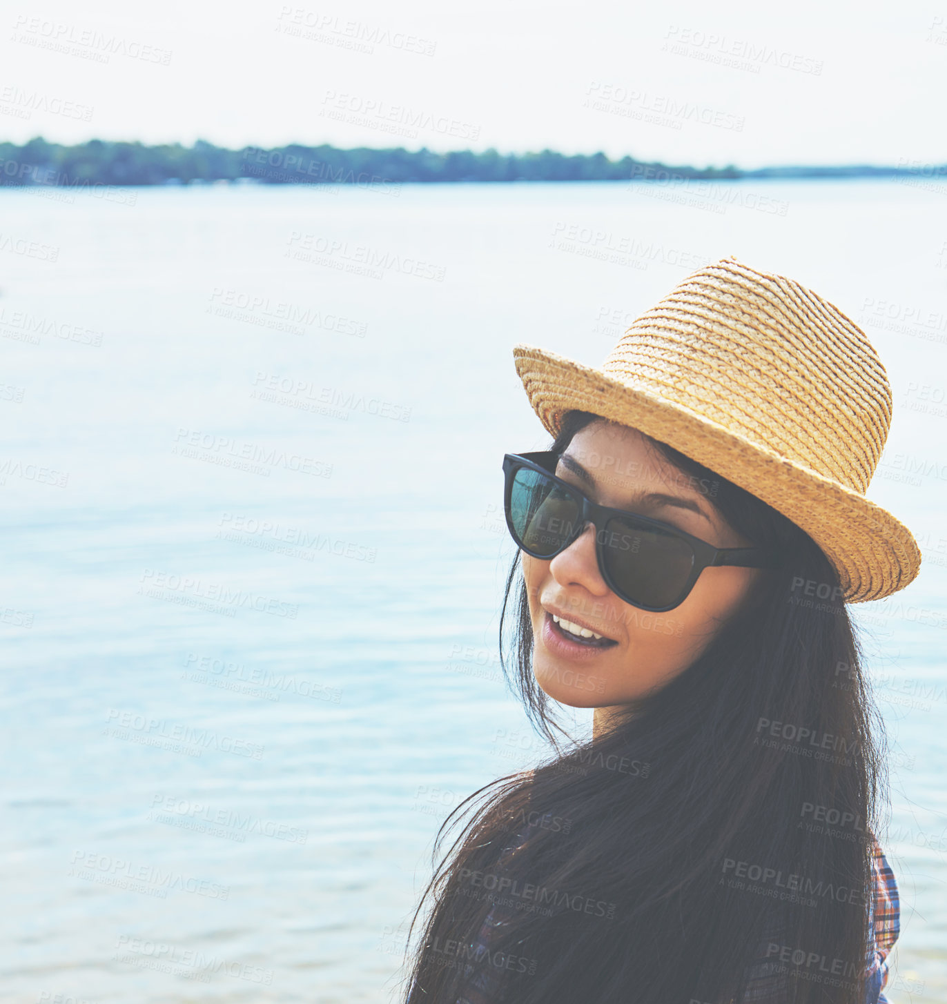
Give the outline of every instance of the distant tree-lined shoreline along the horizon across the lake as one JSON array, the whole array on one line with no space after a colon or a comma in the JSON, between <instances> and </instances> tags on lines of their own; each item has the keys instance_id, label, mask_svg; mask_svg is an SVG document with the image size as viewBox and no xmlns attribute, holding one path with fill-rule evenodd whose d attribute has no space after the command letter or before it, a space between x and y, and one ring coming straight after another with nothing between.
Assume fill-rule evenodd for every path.
<instances>
[{"instance_id":1,"label":"distant tree-lined shoreline along the horizon across the lake","mask_svg":"<svg viewBox=\"0 0 947 1004\"><path fill-rule=\"evenodd\" d=\"M795 180L806 178L940 179L947 185L947 164L924 164L902 158L898 166L775 166L743 170L695 168L632 157L610 160L605 154L567 156L551 150L527 154L452 151L439 154L422 148L342 150L321 145L243 147L229 150L198 140L146 146L142 143L89 140L72 147L37 137L22 146L0 143L0 188L53 186L153 186L192 184L356 185L384 190L402 184L593 182L674 183L690 180Z\"/></svg>"}]
</instances>

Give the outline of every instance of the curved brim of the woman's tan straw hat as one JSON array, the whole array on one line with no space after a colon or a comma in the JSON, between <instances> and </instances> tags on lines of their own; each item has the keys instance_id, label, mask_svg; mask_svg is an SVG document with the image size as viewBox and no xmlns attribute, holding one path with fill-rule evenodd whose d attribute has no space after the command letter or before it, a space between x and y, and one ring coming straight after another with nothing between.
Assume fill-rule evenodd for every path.
<instances>
[{"instance_id":1,"label":"curved brim of the woman's tan straw hat","mask_svg":"<svg viewBox=\"0 0 947 1004\"><path fill-rule=\"evenodd\" d=\"M578 409L667 443L801 527L837 569L848 602L881 599L916 577L921 553L911 531L845 485L557 352L519 343L513 358L529 404L550 436L558 434L566 412Z\"/></svg>"}]
</instances>

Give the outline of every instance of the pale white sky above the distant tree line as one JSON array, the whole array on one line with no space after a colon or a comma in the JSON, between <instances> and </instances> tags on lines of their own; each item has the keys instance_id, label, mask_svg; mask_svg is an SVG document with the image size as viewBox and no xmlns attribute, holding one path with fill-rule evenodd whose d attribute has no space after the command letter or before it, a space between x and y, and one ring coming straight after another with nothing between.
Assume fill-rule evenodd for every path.
<instances>
[{"instance_id":1,"label":"pale white sky above the distant tree line","mask_svg":"<svg viewBox=\"0 0 947 1004\"><path fill-rule=\"evenodd\" d=\"M0 139L947 162L947 4L4 5Z\"/></svg>"}]
</instances>

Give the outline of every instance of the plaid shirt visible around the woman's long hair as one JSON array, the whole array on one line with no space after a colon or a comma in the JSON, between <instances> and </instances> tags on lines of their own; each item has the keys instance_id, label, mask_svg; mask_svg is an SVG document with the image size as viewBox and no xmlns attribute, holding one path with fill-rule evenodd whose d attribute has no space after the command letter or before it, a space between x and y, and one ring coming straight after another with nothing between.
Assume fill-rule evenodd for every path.
<instances>
[{"instance_id":1,"label":"plaid shirt visible around the woman's long hair","mask_svg":"<svg viewBox=\"0 0 947 1004\"><path fill-rule=\"evenodd\" d=\"M527 822L513 838L511 844L503 849L498 862L500 865L509 860L517 846L525 839L531 825L533 824ZM882 990L888 982L888 954L901 930L900 900L895 873L874 836L872 843L874 848L872 857L874 895L871 900L869 920L871 940L867 955L870 961L868 963L869 979L865 1004L891 1004ZM504 904L502 900L494 903L480 928L476 941L471 942L468 946L468 955L479 958L484 952L489 952L493 932L506 923L514 913L515 909L511 904ZM473 967L470 965L465 969L464 982L461 995L457 998L457 1004L497 1004L501 1000L502 960L498 962L497 968L484 967L480 973L473 977L471 977L472 970ZM764 980L759 981L755 986L751 983L744 1000L765 999L764 983Z\"/></svg>"}]
</instances>

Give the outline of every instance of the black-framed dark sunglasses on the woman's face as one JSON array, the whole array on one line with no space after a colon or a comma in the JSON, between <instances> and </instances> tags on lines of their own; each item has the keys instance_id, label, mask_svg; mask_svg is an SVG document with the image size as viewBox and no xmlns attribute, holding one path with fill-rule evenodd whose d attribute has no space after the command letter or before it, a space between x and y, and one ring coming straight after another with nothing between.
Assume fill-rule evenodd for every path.
<instances>
[{"instance_id":1,"label":"black-framed dark sunglasses on the woman's face","mask_svg":"<svg viewBox=\"0 0 947 1004\"><path fill-rule=\"evenodd\" d=\"M599 505L555 476L557 460L551 450L504 455L503 508L513 540L532 557L549 560L593 523L602 577L633 606L655 612L679 606L714 565L779 566L771 548L714 547L670 523Z\"/></svg>"}]
</instances>

